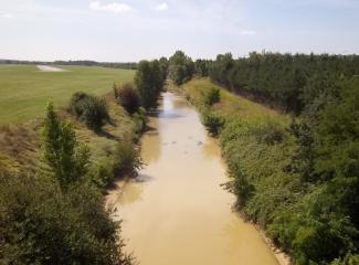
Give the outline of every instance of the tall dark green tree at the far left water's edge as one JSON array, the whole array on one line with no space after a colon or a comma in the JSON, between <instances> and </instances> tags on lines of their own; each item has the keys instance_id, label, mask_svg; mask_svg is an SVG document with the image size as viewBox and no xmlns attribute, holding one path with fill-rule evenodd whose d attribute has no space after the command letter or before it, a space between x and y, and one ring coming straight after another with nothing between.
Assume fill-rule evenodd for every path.
<instances>
[{"instance_id":1,"label":"tall dark green tree at the far left water's edge","mask_svg":"<svg viewBox=\"0 0 359 265\"><path fill-rule=\"evenodd\" d=\"M135 74L135 85L146 109L157 106L157 98L161 92L166 66L158 60L140 61Z\"/></svg>"}]
</instances>

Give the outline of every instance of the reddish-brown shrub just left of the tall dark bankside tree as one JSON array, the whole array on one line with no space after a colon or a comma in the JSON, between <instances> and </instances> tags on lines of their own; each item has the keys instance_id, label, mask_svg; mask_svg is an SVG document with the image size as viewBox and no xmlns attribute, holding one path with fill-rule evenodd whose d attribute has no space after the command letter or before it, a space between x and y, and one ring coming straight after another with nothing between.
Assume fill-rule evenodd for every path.
<instances>
[{"instance_id":1,"label":"reddish-brown shrub just left of the tall dark bankside tree","mask_svg":"<svg viewBox=\"0 0 359 265\"><path fill-rule=\"evenodd\" d=\"M118 100L119 104L127 110L129 114L138 112L141 106L141 98L137 89L134 88L131 84L125 84L118 89Z\"/></svg>"}]
</instances>

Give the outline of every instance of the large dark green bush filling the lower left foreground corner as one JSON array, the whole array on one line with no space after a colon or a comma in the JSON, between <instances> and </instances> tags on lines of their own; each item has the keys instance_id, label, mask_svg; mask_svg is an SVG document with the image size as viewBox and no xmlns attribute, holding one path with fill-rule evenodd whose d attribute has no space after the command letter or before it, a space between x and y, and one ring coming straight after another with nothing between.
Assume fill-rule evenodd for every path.
<instances>
[{"instance_id":1,"label":"large dark green bush filling the lower left foreground corner","mask_svg":"<svg viewBox=\"0 0 359 265\"><path fill-rule=\"evenodd\" d=\"M119 223L91 186L66 193L44 176L0 173L1 264L130 264Z\"/></svg>"}]
</instances>

